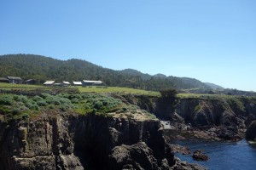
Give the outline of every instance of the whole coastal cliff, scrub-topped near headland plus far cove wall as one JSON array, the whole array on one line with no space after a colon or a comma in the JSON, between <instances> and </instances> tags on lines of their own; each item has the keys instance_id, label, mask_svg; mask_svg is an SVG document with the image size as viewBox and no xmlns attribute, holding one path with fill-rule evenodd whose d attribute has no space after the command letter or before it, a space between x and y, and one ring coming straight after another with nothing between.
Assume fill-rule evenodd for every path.
<instances>
[{"instance_id":1,"label":"whole coastal cliff, scrub-topped near headland plus far cove wall","mask_svg":"<svg viewBox=\"0 0 256 170\"><path fill-rule=\"evenodd\" d=\"M0 170L204 169L174 156L160 120L148 112L168 120L179 134L204 139L236 141L247 128L248 138L255 132L253 100L178 99L168 105L154 96L112 97L118 99L2 95Z\"/></svg>"}]
</instances>

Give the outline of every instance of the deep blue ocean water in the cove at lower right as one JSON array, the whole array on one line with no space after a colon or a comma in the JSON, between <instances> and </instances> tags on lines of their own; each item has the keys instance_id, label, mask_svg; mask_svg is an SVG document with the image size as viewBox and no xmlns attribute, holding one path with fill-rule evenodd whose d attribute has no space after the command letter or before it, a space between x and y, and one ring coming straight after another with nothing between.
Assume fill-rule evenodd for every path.
<instances>
[{"instance_id":1,"label":"deep blue ocean water in the cove at lower right","mask_svg":"<svg viewBox=\"0 0 256 170\"><path fill-rule=\"evenodd\" d=\"M188 146L192 153L195 149L204 150L204 153L210 156L208 161L195 161L192 155L176 154L182 161L199 163L211 170L256 170L256 145L248 144L245 139L237 143L190 139L177 141L177 144Z\"/></svg>"}]
</instances>

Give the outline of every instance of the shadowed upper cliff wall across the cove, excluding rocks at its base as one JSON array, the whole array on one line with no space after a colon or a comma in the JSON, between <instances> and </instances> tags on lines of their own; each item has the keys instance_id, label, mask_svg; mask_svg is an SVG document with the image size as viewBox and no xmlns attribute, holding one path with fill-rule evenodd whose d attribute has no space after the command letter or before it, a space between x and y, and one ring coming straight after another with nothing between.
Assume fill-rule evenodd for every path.
<instances>
[{"instance_id":1,"label":"shadowed upper cliff wall across the cove, excluding rocks at its base","mask_svg":"<svg viewBox=\"0 0 256 170\"><path fill-rule=\"evenodd\" d=\"M235 98L235 97L234 97ZM232 99L234 99L232 98ZM121 98L124 102L138 105L141 109L154 113L157 117L172 120L176 112L186 123L195 127L202 126L231 126L240 123L237 118L243 121L248 116L256 116L256 105L245 99L178 99L177 105L166 104L161 98L148 96L125 95ZM240 102L237 104L237 102Z\"/></svg>"}]
</instances>

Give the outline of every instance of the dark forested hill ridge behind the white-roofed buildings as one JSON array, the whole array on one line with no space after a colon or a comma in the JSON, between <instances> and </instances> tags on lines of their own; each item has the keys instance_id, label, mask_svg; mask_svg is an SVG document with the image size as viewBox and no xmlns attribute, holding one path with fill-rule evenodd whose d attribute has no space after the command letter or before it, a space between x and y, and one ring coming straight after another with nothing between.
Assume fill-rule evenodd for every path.
<instances>
[{"instance_id":1,"label":"dark forested hill ridge behind the white-roofed buildings","mask_svg":"<svg viewBox=\"0 0 256 170\"><path fill-rule=\"evenodd\" d=\"M33 54L0 56L0 77L46 80L101 80L107 86L160 90L165 88L209 88L205 83L188 77L153 77L140 71L113 71L82 59L60 60Z\"/></svg>"}]
</instances>

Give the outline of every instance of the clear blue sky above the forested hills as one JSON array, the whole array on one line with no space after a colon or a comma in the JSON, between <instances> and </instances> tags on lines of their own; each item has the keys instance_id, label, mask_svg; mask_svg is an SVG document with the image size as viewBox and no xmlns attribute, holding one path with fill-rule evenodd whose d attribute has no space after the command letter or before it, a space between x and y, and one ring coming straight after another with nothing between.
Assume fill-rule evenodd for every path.
<instances>
[{"instance_id":1,"label":"clear blue sky above the forested hills","mask_svg":"<svg viewBox=\"0 0 256 170\"><path fill-rule=\"evenodd\" d=\"M1 0L0 54L256 91L255 0Z\"/></svg>"}]
</instances>

